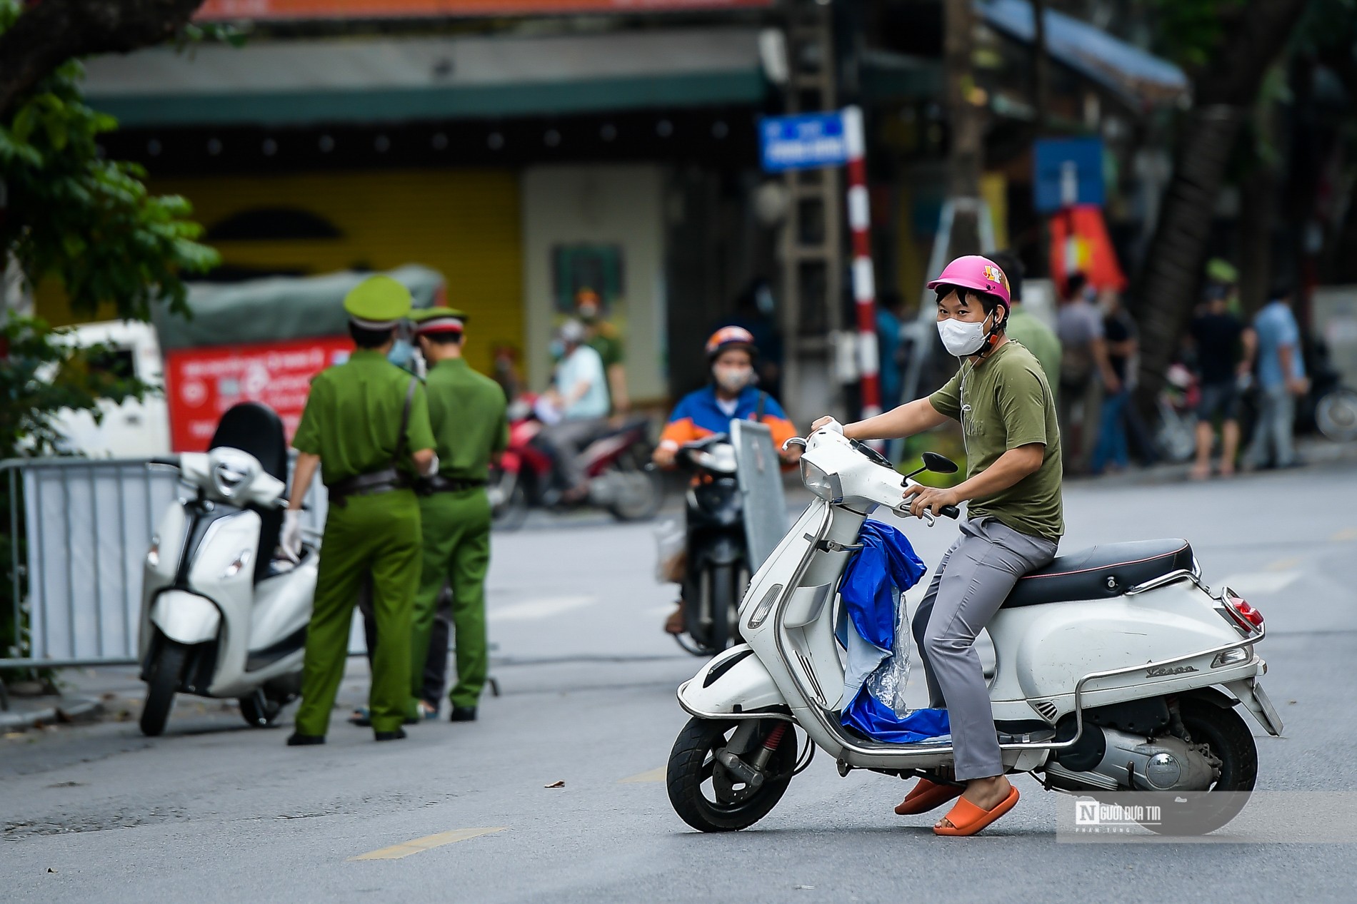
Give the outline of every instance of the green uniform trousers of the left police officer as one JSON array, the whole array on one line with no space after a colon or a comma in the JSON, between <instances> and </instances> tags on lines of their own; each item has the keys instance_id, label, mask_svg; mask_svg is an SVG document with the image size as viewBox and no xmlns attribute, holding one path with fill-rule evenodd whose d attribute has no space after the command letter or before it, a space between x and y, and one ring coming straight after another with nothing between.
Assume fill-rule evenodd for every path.
<instances>
[{"instance_id":1,"label":"green uniform trousers of the left police officer","mask_svg":"<svg viewBox=\"0 0 1357 904\"><path fill-rule=\"evenodd\" d=\"M349 630L364 580L372 577L377 649L368 706L375 732L406 718L410 610L419 587L419 504L414 491L350 496L331 506L320 545L316 602L307 629L297 732L324 735L349 659Z\"/></svg>"}]
</instances>

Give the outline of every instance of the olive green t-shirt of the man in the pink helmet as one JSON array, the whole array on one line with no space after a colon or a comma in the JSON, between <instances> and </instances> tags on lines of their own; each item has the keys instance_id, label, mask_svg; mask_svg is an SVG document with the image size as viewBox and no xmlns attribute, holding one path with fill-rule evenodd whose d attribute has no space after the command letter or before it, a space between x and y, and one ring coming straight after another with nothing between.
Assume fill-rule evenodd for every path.
<instances>
[{"instance_id":1,"label":"olive green t-shirt of the man in the pink helmet","mask_svg":"<svg viewBox=\"0 0 1357 904\"><path fill-rule=\"evenodd\" d=\"M957 375L928 401L939 415L961 422L968 480L1010 449L1045 446L1039 469L993 496L972 499L966 515L989 515L1019 534L1058 541L1065 533L1060 427L1050 385L1033 354L1008 342L980 365L963 361Z\"/></svg>"}]
</instances>

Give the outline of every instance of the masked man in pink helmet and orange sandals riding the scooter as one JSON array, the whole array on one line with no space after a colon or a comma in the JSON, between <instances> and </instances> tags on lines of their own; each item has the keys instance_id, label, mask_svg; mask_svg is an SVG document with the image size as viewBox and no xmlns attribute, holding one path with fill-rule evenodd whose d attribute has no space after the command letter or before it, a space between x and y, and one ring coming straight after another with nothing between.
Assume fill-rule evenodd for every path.
<instances>
[{"instance_id":1,"label":"masked man in pink helmet and orange sandals riding the scooter","mask_svg":"<svg viewBox=\"0 0 1357 904\"><path fill-rule=\"evenodd\" d=\"M961 794L934 831L974 835L1018 802L1004 778L974 641L1018 579L1056 556L1065 529L1060 428L1045 371L1004 332L1003 271L978 255L958 258L928 287L938 293L942 342L961 359L957 375L932 396L841 430L849 439L897 439L961 422L966 480L949 489L916 484L904 496L916 516L968 503L961 537L942 557L913 621L931 705L947 709L953 774L965 792L920 779L896 812L923 813ZM837 428L829 417L813 428L826 426Z\"/></svg>"}]
</instances>

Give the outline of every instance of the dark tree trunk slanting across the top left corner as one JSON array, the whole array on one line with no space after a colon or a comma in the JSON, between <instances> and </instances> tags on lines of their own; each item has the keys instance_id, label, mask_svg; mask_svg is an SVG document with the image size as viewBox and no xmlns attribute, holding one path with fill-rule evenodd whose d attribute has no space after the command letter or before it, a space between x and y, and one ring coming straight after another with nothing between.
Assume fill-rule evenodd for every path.
<instances>
[{"instance_id":1,"label":"dark tree trunk slanting across the top left corner","mask_svg":"<svg viewBox=\"0 0 1357 904\"><path fill-rule=\"evenodd\" d=\"M128 53L179 34L202 0L37 0L0 34L0 122L73 57Z\"/></svg>"}]
</instances>

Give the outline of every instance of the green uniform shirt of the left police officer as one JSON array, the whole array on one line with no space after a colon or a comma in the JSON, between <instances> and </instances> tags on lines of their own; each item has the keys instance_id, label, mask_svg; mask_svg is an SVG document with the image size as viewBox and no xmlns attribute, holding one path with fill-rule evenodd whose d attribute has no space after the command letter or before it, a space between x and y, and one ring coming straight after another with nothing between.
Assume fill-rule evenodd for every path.
<instances>
[{"instance_id":1,"label":"green uniform shirt of the left police officer","mask_svg":"<svg viewBox=\"0 0 1357 904\"><path fill-rule=\"evenodd\" d=\"M381 352L360 348L347 362L322 370L311 381L292 445L297 451L320 455L327 487L391 465L411 379ZM406 461L398 466L414 473L408 454L433 446L429 401L417 381L406 424Z\"/></svg>"}]
</instances>

